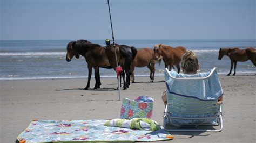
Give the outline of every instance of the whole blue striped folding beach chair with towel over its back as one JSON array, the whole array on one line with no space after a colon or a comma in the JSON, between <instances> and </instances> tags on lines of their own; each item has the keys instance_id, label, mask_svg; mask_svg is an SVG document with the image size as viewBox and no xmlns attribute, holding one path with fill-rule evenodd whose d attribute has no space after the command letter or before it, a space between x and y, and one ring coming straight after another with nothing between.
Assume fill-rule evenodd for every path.
<instances>
[{"instance_id":1,"label":"whole blue striped folding beach chair with towel over its back","mask_svg":"<svg viewBox=\"0 0 256 143\"><path fill-rule=\"evenodd\" d=\"M206 132L223 129L222 101L218 102L218 98L223 95L223 89L216 68L211 72L195 75L178 74L166 68L165 81L166 131Z\"/></svg>"}]
</instances>

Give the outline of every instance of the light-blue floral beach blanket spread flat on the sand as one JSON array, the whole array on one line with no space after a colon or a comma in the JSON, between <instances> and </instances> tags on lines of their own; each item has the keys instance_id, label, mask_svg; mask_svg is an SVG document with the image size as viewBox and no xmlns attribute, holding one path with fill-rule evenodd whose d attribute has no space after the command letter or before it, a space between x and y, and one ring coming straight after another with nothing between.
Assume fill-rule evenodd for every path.
<instances>
[{"instance_id":1,"label":"light-blue floral beach blanket spread flat on the sand","mask_svg":"<svg viewBox=\"0 0 256 143\"><path fill-rule=\"evenodd\" d=\"M163 128L157 131L109 127L108 120L33 120L18 137L26 142L73 141L163 141L172 136Z\"/></svg>"}]
</instances>

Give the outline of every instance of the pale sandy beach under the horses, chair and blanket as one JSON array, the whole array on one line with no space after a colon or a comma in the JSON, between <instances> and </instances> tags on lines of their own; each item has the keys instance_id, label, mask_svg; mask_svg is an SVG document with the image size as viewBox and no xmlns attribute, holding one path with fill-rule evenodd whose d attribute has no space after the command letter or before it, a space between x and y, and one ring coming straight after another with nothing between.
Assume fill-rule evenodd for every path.
<instances>
[{"instance_id":1,"label":"pale sandy beach under the horses, chair and blanket","mask_svg":"<svg viewBox=\"0 0 256 143\"><path fill-rule=\"evenodd\" d=\"M221 132L170 132L170 142L255 142L255 89L254 74L220 75L224 89ZM118 101L116 78L101 78L102 86L83 90L86 78L58 80L0 81L1 87L1 142L15 142L32 119L89 120L119 118L122 101ZM155 99L152 119L163 125L164 104L161 94L165 90L163 76L136 77L121 98L134 99L139 95Z\"/></svg>"}]
</instances>

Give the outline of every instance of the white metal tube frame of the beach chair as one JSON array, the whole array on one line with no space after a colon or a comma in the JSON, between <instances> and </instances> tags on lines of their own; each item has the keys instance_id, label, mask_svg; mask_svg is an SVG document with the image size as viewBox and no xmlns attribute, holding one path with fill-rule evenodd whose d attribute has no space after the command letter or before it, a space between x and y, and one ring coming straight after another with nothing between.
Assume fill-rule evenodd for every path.
<instances>
[{"instance_id":1,"label":"white metal tube frame of the beach chair","mask_svg":"<svg viewBox=\"0 0 256 143\"><path fill-rule=\"evenodd\" d=\"M169 70L167 68L165 68L165 71L167 73L167 76L169 76L170 78L172 78L173 80L206 80L207 78L211 77L211 75L214 73L214 71L217 70L217 68L213 68L212 71L210 72L210 74L207 77L191 77L191 78L176 78L173 77ZM168 94L167 94L168 96ZM217 102L217 101L216 101ZM186 117L172 117L171 116L171 112L168 112L168 106L170 104L165 105L165 110L164 110L164 129L166 131L181 131L181 132L209 132L209 131L217 131L220 132L221 130L223 130L223 116L222 116L222 102L217 102L216 103L218 105L218 113L216 113L214 116L212 117L199 117L199 118L186 118ZM214 124L197 124L195 126L218 126L220 125L219 129L197 129L197 128L166 128L166 125L173 125L171 122L171 119L189 119L189 120L200 120L200 119L217 119L217 123ZM189 125L193 125L193 124L189 124ZM184 125L186 126L186 125Z\"/></svg>"}]
</instances>

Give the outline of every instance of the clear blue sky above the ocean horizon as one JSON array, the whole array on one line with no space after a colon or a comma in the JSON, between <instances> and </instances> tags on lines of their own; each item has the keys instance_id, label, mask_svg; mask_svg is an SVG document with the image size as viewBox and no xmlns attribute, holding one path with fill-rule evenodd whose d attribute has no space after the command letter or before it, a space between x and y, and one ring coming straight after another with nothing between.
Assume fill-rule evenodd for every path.
<instances>
[{"instance_id":1,"label":"clear blue sky above the ocean horizon","mask_svg":"<svg viewBox=\"0 0 256 143\"><path fill-rule=\"evenodd\" d=\"M1 0L0 40L111 38L107 0ZM256 39L254 0L110 0L116 39Z\"/></svg>"}]
</instances>

